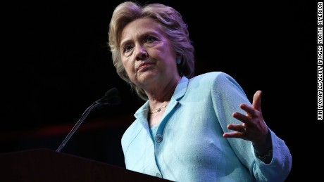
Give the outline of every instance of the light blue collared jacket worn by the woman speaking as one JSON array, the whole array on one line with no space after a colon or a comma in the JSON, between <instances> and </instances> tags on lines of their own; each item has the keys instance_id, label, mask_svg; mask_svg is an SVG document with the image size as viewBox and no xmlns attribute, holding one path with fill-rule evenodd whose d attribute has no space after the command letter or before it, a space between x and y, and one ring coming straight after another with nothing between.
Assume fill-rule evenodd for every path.
<instances>
[{"instance_id":1,"label":"light blue collared jacket worn by the woman speaking","mask_svg":"<svg viewBox=\"0 0 324 182\"><path fill-rule=\"evenodd\" d=\"M265 164L250 141L223 138L228 124L242 124L232 112L250 104L235 79L224 72L182 77L151 137L147 101L125 131L126 168L171 181L285 181L292 157L285 142L270 131L273 159ZM279 122L279 121L275 121Z\"/></svg>"}]
</instances>

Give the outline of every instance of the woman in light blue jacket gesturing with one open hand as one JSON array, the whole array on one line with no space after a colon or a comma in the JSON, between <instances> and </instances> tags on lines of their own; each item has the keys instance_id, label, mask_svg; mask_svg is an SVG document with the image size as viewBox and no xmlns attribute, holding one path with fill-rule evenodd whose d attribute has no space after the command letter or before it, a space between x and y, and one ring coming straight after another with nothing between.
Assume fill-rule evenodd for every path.
<instances>
[{"instance_id":1,"label":"woman in light blue jacket gesturing with one open hand","mask_svg":"<svg viewBox=\"0 0 324 182\"><path fill-rule=\"evenodd\" d=\"M109 46L118 75L143 100L125 131L126 168L171 181L285 181L292 157L224 72L194 77L194 47L170 6L116 7Z\"/></svg>"}]
</instances>

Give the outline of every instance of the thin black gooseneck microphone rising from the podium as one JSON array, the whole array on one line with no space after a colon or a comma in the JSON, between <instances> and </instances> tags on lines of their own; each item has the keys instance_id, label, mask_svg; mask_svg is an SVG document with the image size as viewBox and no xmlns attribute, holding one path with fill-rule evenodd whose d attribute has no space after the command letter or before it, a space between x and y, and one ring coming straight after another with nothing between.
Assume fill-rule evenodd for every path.
<instances>
[{"instance_id":1,"label":"thin black gooseneck microphone rising from the podium","mask_svg":"<svg viewBox=\"0 0 324 182\"><path fill-rule=\"evenodd\" d=\"M120 102L121 99L118 96L118 89L113 87L112 89L106 91L105 95L102 98L96 100L92 105L89 106L89 108L87 108L87 110L85 110L85 112L83 112L80 119L77 121L75 126L73 126L72 130L68 133L68 136L66 136L61 145L56 149L56 152L61 152L62 148L66 145L66 143L68 143L68 140L71 138L71 136L73 136L77 128L79 128L79 126L82 124L82 122L85 120L87 115L89 115L93 108L96 108L99 105L118 105L120 104Z\"/></svg>"}]
</instances>

